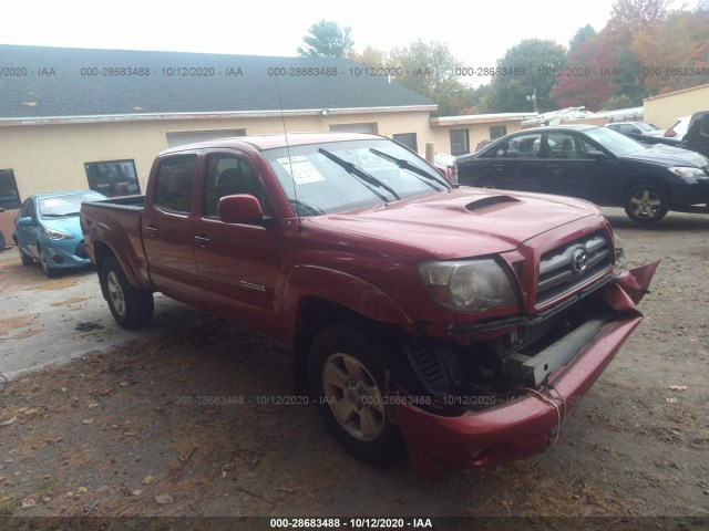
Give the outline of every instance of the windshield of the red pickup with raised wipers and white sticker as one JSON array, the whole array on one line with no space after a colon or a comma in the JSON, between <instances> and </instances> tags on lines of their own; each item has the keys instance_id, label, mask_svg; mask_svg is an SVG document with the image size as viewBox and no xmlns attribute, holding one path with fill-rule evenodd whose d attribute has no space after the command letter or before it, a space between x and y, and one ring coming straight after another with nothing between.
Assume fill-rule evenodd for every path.
<instances>
[{"instance_id":1,"label":"windshield of the red pickup with raised wipers and white sticker","mask_svg":"<svg viewBox=\"0 0 709 531\"><path fill-rule=\"evenodd\" d=\"M386 138L267 149L264 157L298 216L342 212L450 188L424 160Z\"/></svg>"}]
</instances>

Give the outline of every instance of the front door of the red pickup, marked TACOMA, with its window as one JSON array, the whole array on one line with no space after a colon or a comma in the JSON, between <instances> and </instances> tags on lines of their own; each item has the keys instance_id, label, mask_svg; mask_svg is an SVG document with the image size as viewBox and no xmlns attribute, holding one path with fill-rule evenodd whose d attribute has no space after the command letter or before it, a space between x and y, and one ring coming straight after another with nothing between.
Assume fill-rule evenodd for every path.
<instances>
[{"instance_id":1,"label":"front door of the red pickup, marked TACOMA, with its window","mask_svg":"<svg viewBox=\"0 0 709 531\"><path fill-rule=\"evenodd\" d=\"M195 258L212 311L266 334L280 335L276 315L277 230L270 222L271 200L256 168L254 160L239 150L205 155L199 179L201 215L193 231ZM265 220L244 225L220 221L219 199L238 194L256 197Z\"/></svg>"}]
</instances>

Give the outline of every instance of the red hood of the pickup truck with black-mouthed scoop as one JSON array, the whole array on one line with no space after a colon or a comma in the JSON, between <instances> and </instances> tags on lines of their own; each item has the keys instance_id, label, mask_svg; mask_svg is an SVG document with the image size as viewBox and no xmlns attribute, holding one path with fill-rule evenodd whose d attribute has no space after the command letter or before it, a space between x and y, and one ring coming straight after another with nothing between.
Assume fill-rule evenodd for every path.
<instances>
[{"instance_id":1,"label":"red hood of the pickup truck with black-mouthed scoop","mask_svg":"<svg viewBox=\"0 0 709 531\"><path fill-rule=\"evenodd\" d=\"M308 222L339 233L417 247L438 259L511 251L521 243L599 210L568 197L461 187Z\"/></svg>"}]
</instances>

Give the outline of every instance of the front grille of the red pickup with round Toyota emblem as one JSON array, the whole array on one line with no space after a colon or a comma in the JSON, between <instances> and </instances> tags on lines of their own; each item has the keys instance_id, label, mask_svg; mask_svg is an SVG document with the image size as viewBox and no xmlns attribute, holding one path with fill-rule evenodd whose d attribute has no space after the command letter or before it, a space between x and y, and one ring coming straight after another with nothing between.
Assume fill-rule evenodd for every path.
<instances>
[{"instance_id":1,"label":"front grille of the red pickup with round Toyota emblem","mask_svg":"<svg viewBox=\"0 0 709 531\"><path fill-rule=\"evenodd\" d=\"M613 263L612 246L603 232L595 232L542 254L537 304L572 291Z\"/></svg>"}]
</instances>

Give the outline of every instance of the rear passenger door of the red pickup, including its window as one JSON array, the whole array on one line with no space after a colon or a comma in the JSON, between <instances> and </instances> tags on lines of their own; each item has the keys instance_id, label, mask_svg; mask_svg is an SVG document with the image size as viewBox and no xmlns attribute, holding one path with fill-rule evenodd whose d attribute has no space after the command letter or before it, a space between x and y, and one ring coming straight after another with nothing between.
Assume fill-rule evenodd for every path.
<instances>
[{"instance_id":1,"label":"rear passenger door of the red pickup, including its window","mask_svg":"<svg viewBox=\"0 0 709 531\"><path fill-rule=\"evenodd\" d=\"M197 153L181 153L158 162L141 227L151 279L163 293L189 303L199 299L193 250L197 160Z\"/></svg>"}]
</instances>

